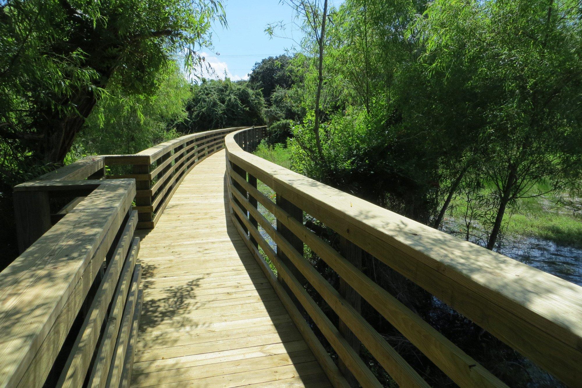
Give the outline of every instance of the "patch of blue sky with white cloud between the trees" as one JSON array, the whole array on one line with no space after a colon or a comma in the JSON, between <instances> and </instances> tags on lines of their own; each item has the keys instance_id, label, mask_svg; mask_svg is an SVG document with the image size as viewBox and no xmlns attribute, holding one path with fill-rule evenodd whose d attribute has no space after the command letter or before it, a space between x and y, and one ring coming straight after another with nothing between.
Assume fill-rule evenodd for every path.
<instances>
[{"instance_id":1,"label":"patch of blue sky with white cloud between the trees","mask_svg":"<svg viewBox=\"0 0 582 388\"><path fill-rule=\"evenodd\" d=\"M331 0L330 5L340 2ZM301 37L297 27L290 23L293 10L288 5L280 4L279 0L223 0L223 5L228 27L222 28L218 23L214 26L214 51L207 49L203 53L216 73L210 78L224 78L226 70L233 81L246 79L255 62L283 54L285 49L292 48L292 40L270 39L265 34L269 23L283 21L289 24L285 31L288 37L297 40Z\"/></svg>"}]
</instances>

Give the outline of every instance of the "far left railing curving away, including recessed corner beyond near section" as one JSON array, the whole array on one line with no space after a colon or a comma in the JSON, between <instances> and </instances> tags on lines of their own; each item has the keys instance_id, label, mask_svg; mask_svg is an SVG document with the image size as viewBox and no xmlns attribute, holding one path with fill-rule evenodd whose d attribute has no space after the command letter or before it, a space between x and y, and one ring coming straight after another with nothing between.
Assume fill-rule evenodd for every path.
<instances>
[{"instance_id":1,"label":"far left railing curving away, including recessed corner beyond near section","mask_svg":"<svg viewBox=\"0 0 582 388\"><path fill-rule=\"evenodd\" d=\"M20 252L74 209L93 190L87 181L95 179L135 179L137 228L153 228L184 176L222 149L226 134L241 128L185 135L132 155L89 156L17 185L14 204ZM125 171L111 175L110 168Z\"/></svg>"}]
</instances>

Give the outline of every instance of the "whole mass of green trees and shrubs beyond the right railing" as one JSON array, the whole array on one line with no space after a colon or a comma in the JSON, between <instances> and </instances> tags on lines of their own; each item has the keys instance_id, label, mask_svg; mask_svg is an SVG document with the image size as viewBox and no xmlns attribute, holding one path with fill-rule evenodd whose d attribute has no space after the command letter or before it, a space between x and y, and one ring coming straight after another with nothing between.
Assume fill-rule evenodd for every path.
<instances>
[{"instance_id":1,"label":"whole mass of green trees and shrubs beyond the right railing","mask_svg":"<svg viewBox=\"0 0 582 388\"><path fill-rule=\"evenodd\" d=\"M435 228L462 198L463 236L488 249L521 199L579 186L579 2L286 2L301 173Z\"/></svg>"}]
</instances>

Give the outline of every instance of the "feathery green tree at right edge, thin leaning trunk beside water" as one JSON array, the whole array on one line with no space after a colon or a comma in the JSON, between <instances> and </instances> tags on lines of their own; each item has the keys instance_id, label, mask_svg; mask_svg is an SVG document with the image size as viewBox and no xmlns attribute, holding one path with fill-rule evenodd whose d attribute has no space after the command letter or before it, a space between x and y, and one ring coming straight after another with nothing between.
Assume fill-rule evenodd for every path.
<instances>
[{"instance_id":1,"label":"feathery green tree at right edge, thin leaning trunk beside water","mask_svg":"<svg viewBox=\"0 0 582 388\"><path fill-rule=\"evenodd\" d=\"M581 16L577 1L435 1L418 19L430 71L469 70L467 113L498 203L488 249L510 203L543 194L542 180L553 191L580 179Z\"/></svg>"}]
</instances>

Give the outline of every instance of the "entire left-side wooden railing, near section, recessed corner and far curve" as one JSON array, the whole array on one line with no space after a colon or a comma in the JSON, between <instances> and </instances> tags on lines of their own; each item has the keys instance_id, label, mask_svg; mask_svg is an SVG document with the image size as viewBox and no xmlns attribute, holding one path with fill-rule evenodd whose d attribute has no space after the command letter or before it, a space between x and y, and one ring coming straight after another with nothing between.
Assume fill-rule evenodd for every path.
<instances>
[{"instance_id":1,"label":"entire left-side wooden railing, near section, recessed corner and far curve","mask_svg":"<svg viewBox=\"0 0 582 388\"><path fill-rule=\"evenodd\" d=\"M0 272L0 387L129 385L142 300L134 231L154 227L188 171L238 129L87 157L15 187L23 253Z\"/></svg>"}]
</instances>

